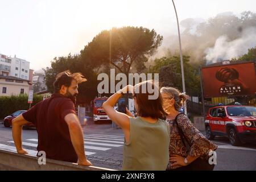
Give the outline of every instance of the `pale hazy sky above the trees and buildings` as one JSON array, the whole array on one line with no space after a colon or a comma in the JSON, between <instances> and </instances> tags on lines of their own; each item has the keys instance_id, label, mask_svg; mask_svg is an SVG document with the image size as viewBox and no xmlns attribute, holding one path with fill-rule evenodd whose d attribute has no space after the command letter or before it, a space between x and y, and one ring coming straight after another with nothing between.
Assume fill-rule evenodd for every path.
<instances>
[{"instance_id":1,"label":"pale hazy sky above the trees and buildings","mask_svg":"<svg viewBox=\"0 0 256 182\"><path fill-rule=\"evenodd\" d=\"M179 21L256 12L255 0L175 0L175 5ZM50 67L54 57L80 53L102 30L123 26L176 35L172 1L0 0L0 53L25 59L37 71Z\"/></svg>"}]
</instances>

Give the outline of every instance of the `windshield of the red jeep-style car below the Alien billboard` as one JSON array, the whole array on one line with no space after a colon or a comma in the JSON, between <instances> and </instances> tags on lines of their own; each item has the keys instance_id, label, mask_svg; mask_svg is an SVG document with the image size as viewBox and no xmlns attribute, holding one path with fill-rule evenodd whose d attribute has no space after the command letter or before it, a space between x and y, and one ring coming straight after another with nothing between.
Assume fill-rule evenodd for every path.
<instances>
[{"instance_id":1,"label":"windshield of the red jeep-style car below the Alien billboard","mask_svg":"<svg viewBox=\"0 0 256 182\"><path fill-rule=\"evenodd\" d=\"M230 116L256 116L256 107L228 107Z\"/></svg>"}]
</instances>

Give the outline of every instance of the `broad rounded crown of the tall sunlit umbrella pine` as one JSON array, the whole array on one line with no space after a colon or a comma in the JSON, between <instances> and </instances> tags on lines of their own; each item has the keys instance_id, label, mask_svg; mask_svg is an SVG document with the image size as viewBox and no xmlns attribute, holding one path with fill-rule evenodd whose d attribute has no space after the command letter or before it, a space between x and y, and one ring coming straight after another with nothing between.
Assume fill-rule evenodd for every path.
<instances>
[{"instance_id":1,"label":"broad rounded crown of the tall sunlit umbrella pine","mask_svg":"<svg viewBox=\"0 0 256 182\"><path fill-rule=\"evenodd\" d=\"M81 51L81 60L92 67L111 64L128 75L131 66L142 72L148 56L154 54L163 36L143 27L122 27L104 30Z\"/></svg>"}]
</instances>

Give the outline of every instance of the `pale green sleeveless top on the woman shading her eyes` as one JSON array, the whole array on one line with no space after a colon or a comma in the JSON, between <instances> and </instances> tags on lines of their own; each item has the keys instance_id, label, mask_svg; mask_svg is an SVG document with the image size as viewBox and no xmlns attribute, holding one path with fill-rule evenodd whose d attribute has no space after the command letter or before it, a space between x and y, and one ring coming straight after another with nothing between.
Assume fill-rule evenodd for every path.
<instances>
[{"instance_id":1,"label":"pale green sleeveless top on the woman shading her eyes","mask_svg":"<svg viewBox=\"0 0 256 182\"><path fill-rule=\"evenodd\" d=\"M169 144L170 127L166 121L149 123L141 117L130 118L130 141L123 146L122 170L166 170Z\"/></svg>"}]
</instances>

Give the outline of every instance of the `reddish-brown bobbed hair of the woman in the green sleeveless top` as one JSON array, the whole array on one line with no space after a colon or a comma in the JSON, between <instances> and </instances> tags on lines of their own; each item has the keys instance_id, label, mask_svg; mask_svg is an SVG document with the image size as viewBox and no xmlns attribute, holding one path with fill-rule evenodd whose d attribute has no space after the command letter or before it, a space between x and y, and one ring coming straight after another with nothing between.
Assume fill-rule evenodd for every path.
<instances>
[{"instance_id":1,"label":"reddish-brown bobbed hair of the woman in the green sleeveless top","mask_svg":"<svg viewBox=\"0 0 256 182\"><path fill-rule=\"evenodd\" d=\"M146 92L143 88L145 88ZM148 88L154 89L154 92L158 92L158 97L156 99L148 99L148 96L153 96L154 93L148 93ZM138 104L138 116L141 117L151 117L154 119L163 118L167 113L163 109L163 98L159 92L159 88L154 84L153 81L144 81L134 86L134 93Z\"/></svg>"}]
</instances>

